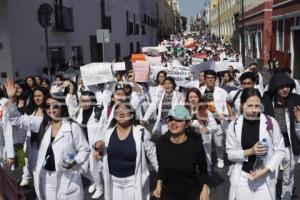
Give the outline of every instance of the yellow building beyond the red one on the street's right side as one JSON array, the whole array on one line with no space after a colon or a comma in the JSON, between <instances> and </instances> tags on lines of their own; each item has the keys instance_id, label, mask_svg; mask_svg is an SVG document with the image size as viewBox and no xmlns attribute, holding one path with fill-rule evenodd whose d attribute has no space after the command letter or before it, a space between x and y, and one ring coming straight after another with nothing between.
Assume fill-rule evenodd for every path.
<instances>
[{"instance_id":1,"label":"yellow building beyond the red one on the street's right side","mask_svg":"<svg viewBox=\"0 0 300 200\"><path fill-rule=\"evenodd\" d=\"M216 37L219 37L220 34L221 38L224 38L225 42L231 43L233 40L232 36L238 27L239 12L239 0L211 0L211 33Z\"/></svg>"}]
</instances>

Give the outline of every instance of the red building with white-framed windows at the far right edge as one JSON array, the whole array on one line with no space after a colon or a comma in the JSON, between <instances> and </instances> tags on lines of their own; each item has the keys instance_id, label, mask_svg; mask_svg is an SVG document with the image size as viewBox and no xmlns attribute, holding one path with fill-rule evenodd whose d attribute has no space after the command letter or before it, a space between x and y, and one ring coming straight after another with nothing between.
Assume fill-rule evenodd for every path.
<instances>
[{"instance_id":1,"label":"red building with white-framed windows at the far right edge","mask_svg":"<svg viewBox=\"0 0 300 200\"><path fill-rule=\"evenodd\" d=\"M300 79L300 1L274 0L272 25L271 56Z\"/></svg>"}]
</instances>

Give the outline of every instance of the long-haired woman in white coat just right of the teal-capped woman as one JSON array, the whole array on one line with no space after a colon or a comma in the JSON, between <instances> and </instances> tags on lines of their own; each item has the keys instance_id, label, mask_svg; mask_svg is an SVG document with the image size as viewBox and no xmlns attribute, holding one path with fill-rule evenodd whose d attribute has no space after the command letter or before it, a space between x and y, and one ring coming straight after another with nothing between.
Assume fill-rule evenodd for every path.
<instances>
[{"instance_id":1,"label":"long-haired woman in white coat just right of the teal-capped woman","mask_svg":"<svg viewBox=\"0 0 300 200\"><path fill-rule=\"evenodd\" d=\"M212 134L218 131L218 124L208 110L208 106L203 101L201 93L197 88L191 88L186 95L186 108L192 116L191 127L202 136L203 147L207 160L207 171L211 175L211 151L212 151Z\"/></svg>"}]
</instances>

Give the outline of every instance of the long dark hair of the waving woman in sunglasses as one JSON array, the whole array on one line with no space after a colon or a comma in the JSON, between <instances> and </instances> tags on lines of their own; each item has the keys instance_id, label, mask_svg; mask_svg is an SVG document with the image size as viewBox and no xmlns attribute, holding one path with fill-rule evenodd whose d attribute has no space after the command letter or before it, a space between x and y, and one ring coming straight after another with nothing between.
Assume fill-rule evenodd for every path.
<instances>
[{"instance_id":1,"label":"long dark hair of the waving woman in sunglasses","mask_svg":"<svg viewBox=\"0 0 300 200\"><path fill-rule=\"evenodd\" d=\"M45 102L48 100L48 99L54 99L58 102L61 103L61 111L62 111L62 118L67 118L70 122L72 122L72 119L69 118L69 113L68 113L68 108L67 108L67 105L65 104L65 99L63 96L59 96L59 95L48 95L46 98L45 98ZM41 143L42 143L42 140L44 138L44 135L45 135L45 132L47 130L47 128L50 126L50 123L51 123L51 118L47 115L46 111L43 110L44 112L44 117L43 117L43 120L42 120L42 123L41 123L41 126L40 126L40 129L39 129L39 133L36 137L36 142L37 142L37 147L39 148Z\"/></svg>"}]
</instances>

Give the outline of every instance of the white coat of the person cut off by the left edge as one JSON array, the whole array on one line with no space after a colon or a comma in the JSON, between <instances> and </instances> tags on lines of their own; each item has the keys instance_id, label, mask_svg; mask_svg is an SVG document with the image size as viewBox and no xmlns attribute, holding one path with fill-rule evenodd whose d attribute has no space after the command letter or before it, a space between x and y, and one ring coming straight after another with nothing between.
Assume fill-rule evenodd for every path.
<instances>
[{"instance_id":1,"label":"white coat of the person cut off by the left edge","mask_svg":"<svg viewBox=\"0 0 300 200\"><path fill-rule=\"evenodd\" d=\"M4 107L6 102L6 98L0 99L0 107L2 108L2 117L0 117L0 162L15 157L12 126L8 121L8 113Z\"/></svg>"}]
</instances>

